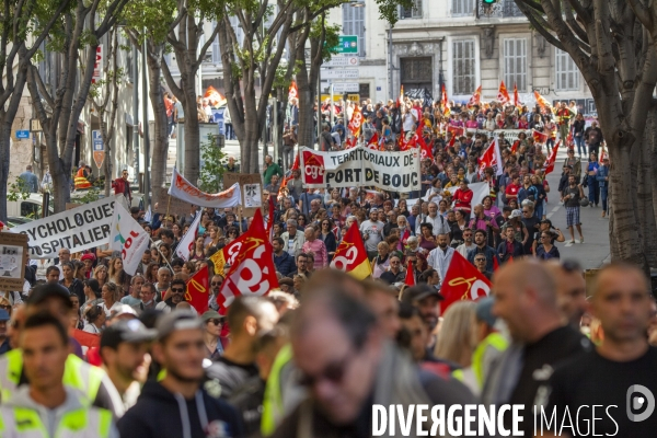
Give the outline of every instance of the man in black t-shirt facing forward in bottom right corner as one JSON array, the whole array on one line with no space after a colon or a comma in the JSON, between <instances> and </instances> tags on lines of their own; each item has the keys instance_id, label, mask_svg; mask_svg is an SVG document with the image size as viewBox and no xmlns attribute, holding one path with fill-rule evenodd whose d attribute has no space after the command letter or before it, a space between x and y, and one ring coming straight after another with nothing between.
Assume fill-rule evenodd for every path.
<instances>
[{"instance_id":1,"label":"man in black t-shirt facing forward in bottom right corner","mask_svg":"<svg viewBox=\"0 0 657 438\"><path fill-rule=\"evenodd\" d=\"M537 406L548 418L555 412L557 419L551 427L543 424L543 430L579 437L592 436L595 427L596 436L654 436L657 348L648 346L645 335L650 320L649 283L635 266L611 264L598 273L591 289L592 311L604 342L557 368L539 390ZM562 424L566 410L572 427Z\"/></svg>"}]
</instances>

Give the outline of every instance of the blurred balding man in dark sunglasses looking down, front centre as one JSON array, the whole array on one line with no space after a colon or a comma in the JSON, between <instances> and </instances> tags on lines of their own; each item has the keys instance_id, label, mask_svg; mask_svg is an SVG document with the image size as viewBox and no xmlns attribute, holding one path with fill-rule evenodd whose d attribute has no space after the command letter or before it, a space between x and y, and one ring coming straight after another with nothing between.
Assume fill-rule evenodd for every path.
<instances>
[{"instance_id":1,"label":"blurred balding man in dark sunglasses looking down, front centre","mask_svg":"<svg viewBox=\"0 0 657 438\"><path fill-rule=\"evenodd\" d=\"M388 339L372 310L335 281L313 288L290 333L309 395L283 420L275 438L371 436L373 404L401 404L407 412L408 403L443 404L446 410L474 403L471 392L448 373L418 371Z\"/></svg>"}]
</instances>

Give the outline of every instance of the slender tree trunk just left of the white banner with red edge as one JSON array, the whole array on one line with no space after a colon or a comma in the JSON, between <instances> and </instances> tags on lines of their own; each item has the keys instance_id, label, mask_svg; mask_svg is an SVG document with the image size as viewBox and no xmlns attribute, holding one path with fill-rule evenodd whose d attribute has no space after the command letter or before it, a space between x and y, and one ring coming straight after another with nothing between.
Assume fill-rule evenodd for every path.
<instances>
[{"instance_id":1,"label":"slender tree trunk just left of the white banner with red edge","mask_svg":"<svg viewBox=\"0 0 657 438\"><path fill-rule=\"evenodd\" d=\"M162 49L152 43L148 43L149 54L147 57L149 82L157 83L158 87L150 87L149 97L153 108L154 127L153 127L153 148L151 153L151 191L152 204L161 201L160 191L164 187L164 177L166 175L166 158L169 155L169 120L166 119L166 107L164 106L164 92L160 84L162 67L160 59Z\"/></svg>"}]
</instances>

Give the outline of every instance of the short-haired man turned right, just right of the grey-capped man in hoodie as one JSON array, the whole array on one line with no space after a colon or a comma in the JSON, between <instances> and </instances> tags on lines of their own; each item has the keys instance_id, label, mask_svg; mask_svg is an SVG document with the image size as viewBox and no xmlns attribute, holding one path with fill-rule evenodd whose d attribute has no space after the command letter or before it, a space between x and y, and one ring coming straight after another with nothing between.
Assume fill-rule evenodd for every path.
<instances>
[{"instance_id":1,"label":"short-haired man turned right, just right of the grey-capped man in hoodie","mask_svg":"<svg viewBox=\"0 0 657 438\"><path fill-rule=\"evenodd\" d=\"M257 376L255 344L258 334L268 332L278 322L276 307L263 297L239 297L228 310L231 343L223 356L206 369L208 379L221 387L219 397L229 399L240 384Z\"/></svg>"}]
</instances>

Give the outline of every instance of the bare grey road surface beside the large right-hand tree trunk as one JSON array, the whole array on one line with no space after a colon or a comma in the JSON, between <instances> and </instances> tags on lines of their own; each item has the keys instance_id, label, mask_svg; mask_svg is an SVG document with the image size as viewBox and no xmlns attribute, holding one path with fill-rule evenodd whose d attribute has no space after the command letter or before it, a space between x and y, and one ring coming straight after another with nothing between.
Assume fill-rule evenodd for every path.
<instances>
[{"instance_id":1,"label":"bare grey road surface beside the large right-hand tree trunk","mask_svg":"<svg viewBox=\"0 0 657 438\"><path fill-rule=\"evenodd\" d=\"M564 233L566 242L570 240L568 230L566 229L566 210L557 193L558 181L561 178L561 169L566 159L566 149L560 148L557 153L554 172L548 175L551 192L548 194L548 219L552 220L552 224L558 228ZM581 158L583 166L586 165L587 159ZM584 174L584 171L583 171ZM588 188L584 189L584 194L588 195ZM585 269L599 267L607 258L609 258L609 219L602 219L602 205L596 207L581 207L580 220L581 231L584 233L584 244L579 243L579 235L575 230L576 242L557 243L557 249L562 260L574 258L581 263Z\"/></svg>"}]
</instances>

